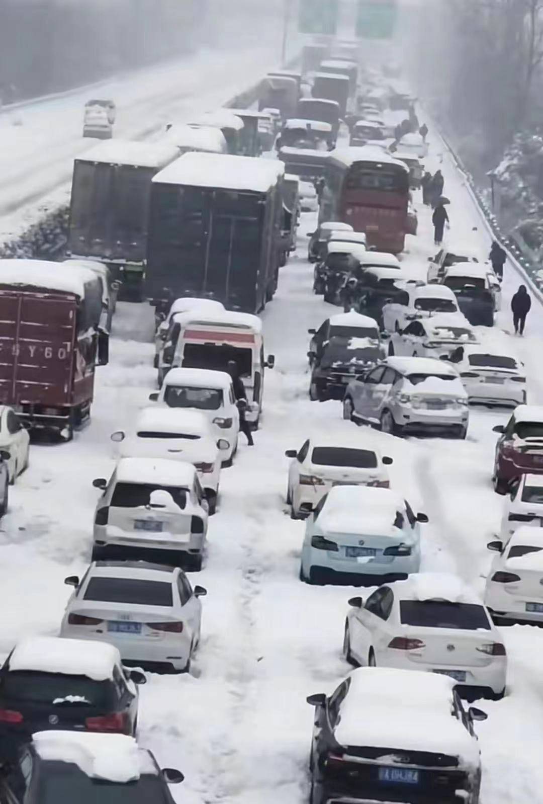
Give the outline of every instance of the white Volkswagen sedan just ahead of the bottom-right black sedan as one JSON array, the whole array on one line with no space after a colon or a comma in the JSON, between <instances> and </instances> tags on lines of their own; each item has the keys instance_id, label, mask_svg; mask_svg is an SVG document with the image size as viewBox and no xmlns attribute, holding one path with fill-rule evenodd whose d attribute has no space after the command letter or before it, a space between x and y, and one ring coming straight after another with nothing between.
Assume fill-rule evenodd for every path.
<instances>
[{"instance_id":1,"label":"white Volkswagen sedan just ahead of the bottom-right black sedan","mask_svg":"<svg viewBox=\"0 0 543 804\"><path fill-rule=\"evenodd\" d=\"M349 605L343 642L349 662L448 675L461 692L503 697L504 644L483 602L459 578L410 575Z\"/></svg>"}]
</instances>

